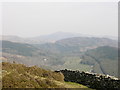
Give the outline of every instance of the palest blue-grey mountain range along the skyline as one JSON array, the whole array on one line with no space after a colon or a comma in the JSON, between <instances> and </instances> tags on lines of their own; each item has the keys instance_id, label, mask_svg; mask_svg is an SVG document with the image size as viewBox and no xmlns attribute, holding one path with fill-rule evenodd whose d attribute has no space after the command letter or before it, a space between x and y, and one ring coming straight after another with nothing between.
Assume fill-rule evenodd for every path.
<instances>
[{"instance_id":1,"label":"palest blue-grey mountain range along the skyline","mask_svg":"<svg viewBox=\"0 0 120 90\"><path fill-rule=\"evenodd\" d=\"M92 35L84 35L84 34L70 33L70 32L56 32L49 35L42 35L42 36L30 37L30 38L22 38L12 35L3 35L0 36L0 40L7 40L12 42L28 43L28 44L43 44L43 43L54 43L58 40L72 38L72 37L99 37L99 38L109 38L113 40L118 40L117 37L112 37L112 36L92 36Z\"/></svg>"}]
</instances>

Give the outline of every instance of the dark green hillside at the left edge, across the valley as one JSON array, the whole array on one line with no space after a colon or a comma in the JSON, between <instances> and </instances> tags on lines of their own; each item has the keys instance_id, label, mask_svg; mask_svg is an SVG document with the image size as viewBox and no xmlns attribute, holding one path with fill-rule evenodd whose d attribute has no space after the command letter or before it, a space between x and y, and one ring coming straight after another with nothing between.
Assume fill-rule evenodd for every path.
<instances>
[{"instance_id":1,"label":"dark green hillside at the left edge, across the valley","mask_svg":"<svg viewBox=\"0 0 120 90\"><path fill-rule=\"evenodd\" d=\"M2 45L2 46L1 46ZM10 41L0 41L2 52L31 56L37 48L29 44L15 43Z\"/></svg>"}]
</instances>

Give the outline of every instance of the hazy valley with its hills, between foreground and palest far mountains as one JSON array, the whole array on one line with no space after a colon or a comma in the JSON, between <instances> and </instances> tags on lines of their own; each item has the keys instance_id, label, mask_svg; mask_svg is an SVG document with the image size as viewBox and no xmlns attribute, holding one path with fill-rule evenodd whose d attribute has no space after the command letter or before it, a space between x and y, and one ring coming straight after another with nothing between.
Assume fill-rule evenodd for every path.
<instances>
[{"instance_id":1,"label":"hazy valley with its hills, between foreground and palest far mountains","mask_svg":"<svg viewBox=\"0 0 120 90\"><path fill-rule=\"evenodd\" d=\"M37 40L37 39L36 39ZM72 69L117 76L116 40L70 37L46 43L0 41L3 61L37 65L51 70ZM112 68L111 65L116 66ZM109 69L109 68L111 69Z\"/></svg>"}]
</instances>

